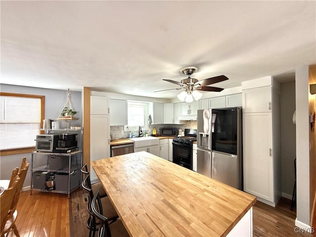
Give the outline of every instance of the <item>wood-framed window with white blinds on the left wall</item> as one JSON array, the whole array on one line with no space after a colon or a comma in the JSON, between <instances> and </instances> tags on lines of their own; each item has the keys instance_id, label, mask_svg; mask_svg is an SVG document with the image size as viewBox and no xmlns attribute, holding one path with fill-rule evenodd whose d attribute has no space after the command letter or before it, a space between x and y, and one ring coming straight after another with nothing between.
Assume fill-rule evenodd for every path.
<instances>
[{"instance_id":1,"label":"wood-framed window with white blinds on the left wall","mask_svg":"<svg viewBox=\"0 0 316 237\"><path fill-rule=\"evenodd\" d=\"M34 150L44 117L45 96L0 93L1 155Z\"/></svg>"}]
</instances>

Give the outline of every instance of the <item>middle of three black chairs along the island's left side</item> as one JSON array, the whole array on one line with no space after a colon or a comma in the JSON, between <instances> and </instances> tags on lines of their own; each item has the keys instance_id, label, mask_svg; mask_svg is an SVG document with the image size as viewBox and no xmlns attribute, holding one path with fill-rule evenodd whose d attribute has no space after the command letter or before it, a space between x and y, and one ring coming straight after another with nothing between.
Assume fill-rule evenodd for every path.
<instances>
[{"instance_id":1,"label":"middle of three black chairs along the island's left side","mask_svg":"<svg viewBox=\"0 0 316 237\"><path fill-rule=\"evenodd\" d=\"M93 215L92 211L91 211L91 202L93 199L93 192L92 189L89 188L89 181L90 181L90 175L87 174L85 176L85 178L83 179L81 186L83 188L83 190L87 193L87 197L88 197L88 203L87 203L87 211L89 213L89 218L87 220L87 227L89 229L89 237L94 236L95 232L98 230L98 226L99 226L99 222L96 221L95 216ZM97 191L98 192L98 191ZM114 209L109 197L102 197L101 198L101 202L103 204L103 206L105 207L105 213L107 213L108 217L109 217L109 221L114 222L118 219L118 213L116 212L116 210Z\"/></svg>"}]
</instances>

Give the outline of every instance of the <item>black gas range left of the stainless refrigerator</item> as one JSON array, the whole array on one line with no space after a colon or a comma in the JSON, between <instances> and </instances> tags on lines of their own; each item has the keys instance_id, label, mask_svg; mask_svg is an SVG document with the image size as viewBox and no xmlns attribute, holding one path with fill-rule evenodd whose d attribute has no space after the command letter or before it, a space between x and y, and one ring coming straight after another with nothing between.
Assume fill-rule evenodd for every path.
<instances>
[{"instance_id":1,"label":"black gas range left of the stainless refrigerator","mask_svg":"<svg viewBox=\"0 0 316 237\"><path fill-rule=\"evenodd\" d=\"M172 140L172 162L193 169L193 142L197 141L197 129L184 129L184 137Z\"/></svg>"}]
</instances>

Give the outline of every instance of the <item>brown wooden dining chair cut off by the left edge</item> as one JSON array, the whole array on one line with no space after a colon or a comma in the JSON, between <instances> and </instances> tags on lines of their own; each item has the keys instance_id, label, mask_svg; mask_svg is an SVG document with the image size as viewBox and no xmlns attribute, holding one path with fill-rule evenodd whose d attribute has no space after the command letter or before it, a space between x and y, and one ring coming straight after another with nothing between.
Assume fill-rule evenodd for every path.
<instances>
[{"instance_id":1,"label":"brown wooden dining chair cut off by the left edge","mask_svg":"<svg viewBox=\"0 0 316 237\"><path fill-rule=\"evenodd\" d=\"M4 190L3 193L0 195L0 203L1 203L1 218L0 218L0 222L1 222L1 227L0 227L0 233L1 233L1 237L4 237L4 230L5 230L5 226L7 221L10 219L10 208L12 205L12 201L13 198L17 192L17 188L18 188L18 183L20 182L20 178L18 175L11 177L11 181L10 185L8 187L8 189ZM17 235L19 237L19 235Z\"/></svg>"}]
</instances>

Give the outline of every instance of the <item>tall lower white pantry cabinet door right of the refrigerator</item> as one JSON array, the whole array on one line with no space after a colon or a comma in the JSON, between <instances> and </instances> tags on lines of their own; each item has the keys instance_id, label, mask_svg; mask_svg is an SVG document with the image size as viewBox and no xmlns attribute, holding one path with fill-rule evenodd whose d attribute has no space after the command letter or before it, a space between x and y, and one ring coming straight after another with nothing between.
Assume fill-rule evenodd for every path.
<instances>
[{"instance_id":1,"label":"tall lower white pantry cabinet door right of the refrigerator","mask_svg":"<svg viewBox=\"0 0 316 237\"><path fill-rule=\"evenodd\" d=\"M243 114L244 191L274 201L272 114Z\"/></svg>"}]
</instances>

